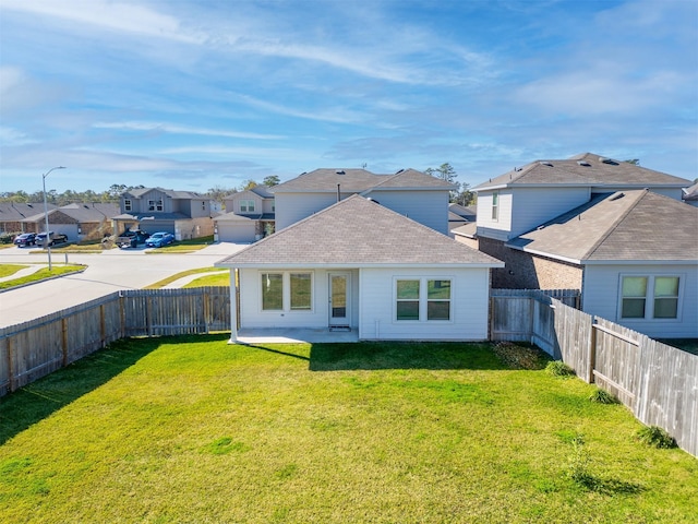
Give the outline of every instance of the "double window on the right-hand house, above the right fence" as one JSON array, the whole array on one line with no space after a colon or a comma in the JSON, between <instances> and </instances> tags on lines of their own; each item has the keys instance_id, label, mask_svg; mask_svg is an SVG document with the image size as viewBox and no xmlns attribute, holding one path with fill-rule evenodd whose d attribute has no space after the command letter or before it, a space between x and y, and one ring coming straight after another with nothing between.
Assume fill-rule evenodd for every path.
<instances>
[{"instance_id":1,"label":"double window on the right-hand house, above the right fence","mask_svg":"<svg viewBox=\"0 0 698 524\"><path fill-rule=\"evenodd\" d=\"M677 319L678 276L623 276L622 319Z\"/></svg>"}]
</instances>

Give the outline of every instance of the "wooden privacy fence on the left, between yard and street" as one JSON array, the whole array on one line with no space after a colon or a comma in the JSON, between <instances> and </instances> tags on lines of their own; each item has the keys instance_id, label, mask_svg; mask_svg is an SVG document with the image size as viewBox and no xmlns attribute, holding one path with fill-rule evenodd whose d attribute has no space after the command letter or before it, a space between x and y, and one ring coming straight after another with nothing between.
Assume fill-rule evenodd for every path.
<instances>
[{"instance_id":1,"label":"wooden privacy fence on the left, between yard and street","mask_svg":"<svg viewBox=\"0 0 698 524\"><path fill-rule=\"evenodd\" d=\"M130 289L0 329L0 396L128 336L230 330L230 288Z\"/></svg>"}]
</instances>

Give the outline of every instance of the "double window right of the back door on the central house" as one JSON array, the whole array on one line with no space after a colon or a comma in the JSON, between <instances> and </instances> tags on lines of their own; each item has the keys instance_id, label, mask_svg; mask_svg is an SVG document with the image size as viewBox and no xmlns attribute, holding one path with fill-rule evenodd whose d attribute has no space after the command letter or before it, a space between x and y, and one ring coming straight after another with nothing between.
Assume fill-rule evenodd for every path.
<instances>
[{"instance_id":1,"label":"double window right of the back door on the central house","mask_svg":"<svg viewBox=\"0 0 698 524\"><path fill-rule=\"evenodd\" d=\"M449 321L450 286L450 279L397 279L396 319Z\"/></svg>"}]
</instances>

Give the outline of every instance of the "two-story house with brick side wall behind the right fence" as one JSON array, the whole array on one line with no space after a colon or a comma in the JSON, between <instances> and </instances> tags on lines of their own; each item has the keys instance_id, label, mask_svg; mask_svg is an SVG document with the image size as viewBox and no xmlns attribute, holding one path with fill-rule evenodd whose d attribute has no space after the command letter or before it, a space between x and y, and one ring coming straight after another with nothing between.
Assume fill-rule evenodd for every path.
<instances>
[{"instance_id":1,"label":"two-story house with brick side wall behind the right fence","mask_svg":"<svg viewBox=\"0 0 698 524\"><path fill-rule=\"evenodd\" d=\"M650 336L698 336L698 214L681 200L689 183L590 153L538 160L476 187L476 235L454 233L505 262L493 287L576 288L591 314Z\"/></svg>"}]
</instances>

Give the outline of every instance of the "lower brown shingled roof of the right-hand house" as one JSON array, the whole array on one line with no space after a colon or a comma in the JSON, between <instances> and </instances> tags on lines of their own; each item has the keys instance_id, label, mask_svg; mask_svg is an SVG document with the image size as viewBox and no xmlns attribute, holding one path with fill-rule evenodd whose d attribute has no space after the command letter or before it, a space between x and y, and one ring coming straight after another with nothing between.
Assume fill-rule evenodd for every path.
<instances>
[{"instance_id":1,"label":"lower brown shingled roof of the right-hand house","mask_svg":"<svg viewBox=\"0 0 698 524\"><path fill-rule=\"evenodd\" d=\"M574 263L698 261L698 209L649 190L595 195L508 247Z\"/></svg>"}]
</instances>

